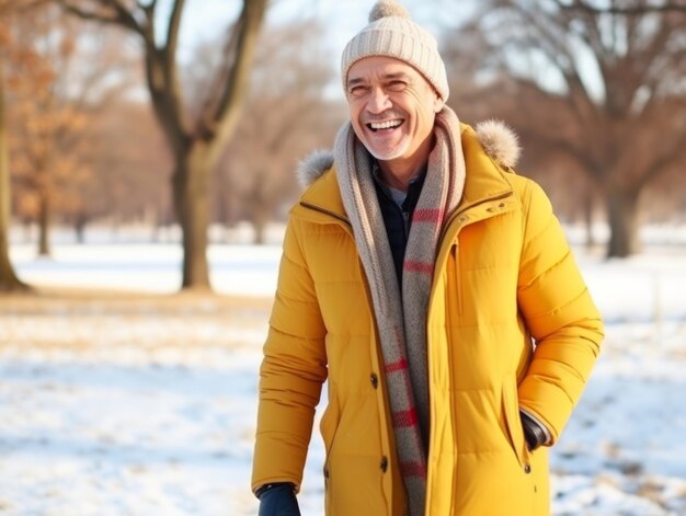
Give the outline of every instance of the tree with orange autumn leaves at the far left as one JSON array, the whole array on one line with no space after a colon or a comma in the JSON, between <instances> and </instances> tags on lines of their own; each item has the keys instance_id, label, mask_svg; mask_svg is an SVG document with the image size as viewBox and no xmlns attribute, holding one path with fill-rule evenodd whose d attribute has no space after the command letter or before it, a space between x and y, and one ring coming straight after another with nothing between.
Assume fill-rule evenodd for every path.
<instances>
[{"instance_id":1,"label":"tree with orange autumn leaves at the far left","mask_svg":"<svg viewBox=\"0 0 686 516\"><path fill-rule=\"evenodd\" d=\"M121 35L89 31L47 2L22 7L5 53L13 206L37 222L38 254L48 255L53 220L82 213L96 113L130 88L134 67Z\"/></svg>"}]
</instances>

